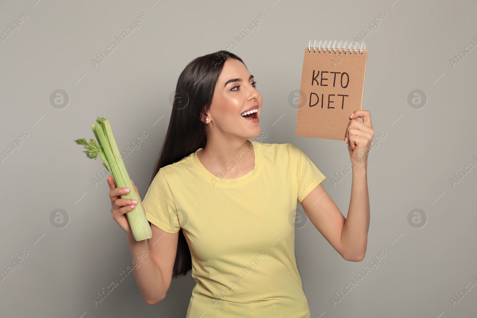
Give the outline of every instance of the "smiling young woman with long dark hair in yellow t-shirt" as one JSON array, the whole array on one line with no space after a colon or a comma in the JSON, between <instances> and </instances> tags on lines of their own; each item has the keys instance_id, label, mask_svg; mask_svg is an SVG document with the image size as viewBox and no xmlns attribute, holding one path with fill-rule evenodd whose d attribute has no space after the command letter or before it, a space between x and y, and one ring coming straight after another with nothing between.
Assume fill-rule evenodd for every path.
<instances>
[{"instance_id":1,"label":"smiling young woman with long dark hair in yellow t-shirt","mask_svg":"<svg viewBox=\"0 0 477 318\"><path fill-rule=\"evenodd\" d=\"M321 185L325 176L298 147L248 140L261 132L261 106L237 55L218 51L187 65L142 200L148 241L135 241L124 215L138 202L120 198L130 190L108 176L112 217L127 232L131 257L146 255L134 276L148 304L163 300L171 279L192 269L187 318L309 318L294 255L297 201L344 259L363 259L369 111L351 114L346 132L353 181L345 219Z\"/></svg>"}]
</instances>

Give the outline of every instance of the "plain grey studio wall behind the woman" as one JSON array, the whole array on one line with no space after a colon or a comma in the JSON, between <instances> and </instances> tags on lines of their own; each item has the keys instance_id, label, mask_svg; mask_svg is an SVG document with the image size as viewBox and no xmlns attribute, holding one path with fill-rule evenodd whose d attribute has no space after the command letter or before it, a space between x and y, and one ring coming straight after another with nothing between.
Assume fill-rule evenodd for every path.
<instances>
[{"instance_id":1,"label":"plain grey studio wall behind the woman","mask_svg":"<svg viewBox=\"0 0 477 318\"><path fill-rule=\"evenodd\" d=\"M477 44L475 1L2 1L0 31L22 12L28 18L21 28L0 43L0 150L28 133L0 163L0 269L22 251L28 256L0 282L2 317L185 317L190 274L173 281L165 301L148 306L131 273L94 307L93 297L119 281L131 257L111 219L106 182L92 182L101 160L85 158L73 140L93 138L89 125L97 116L110 118L120 150L145 131L124 160L144 197L179 73L232 41L263 95L262 142L292 143L308 154L346 216L351 174L335 186L331 180L349 165L347 145L296 137L297 111L288 98L300 88L310 39L355 41L380 12L386 17L364 40L370 55L363 109L371 111L375 136L385 133L368 159L367 252L362 262L348 262L311 222L296 229L311 317L475 317L477 287L455 306L450 297L477 283L477 168L455 186L450 178L477 163L477 48L454 68L449 62ZM147 18L140 28L94 68L96 54L141 12ZM234 36L260 12L267 17L259 29L238 43ZM70 98L63 109L50 103L58 89ZM427 96L421 109L407 103L415 89ZM427 216L424 227L407 221L415 208ZM55 209L67 212L67 226L52 226ZM353 275L380 251L386 256L379 266L357 282ZM352 279L356 286L333 306L331 298Z\"/></svg>"}]
</instances>

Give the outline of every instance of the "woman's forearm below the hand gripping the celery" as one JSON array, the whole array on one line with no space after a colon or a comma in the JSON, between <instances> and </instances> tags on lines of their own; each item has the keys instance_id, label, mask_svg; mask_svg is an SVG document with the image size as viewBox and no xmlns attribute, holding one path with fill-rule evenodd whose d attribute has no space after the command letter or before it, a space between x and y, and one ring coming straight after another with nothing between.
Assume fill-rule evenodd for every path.
<instances>
[{"instance_id":1,"label":"woman's forearm below the hand gripping the celery","mask_svg":"<svg viewBox=\"0 0 477 318\"><path fill-rule=\"evenodd\" d=\"M166 284L161 270L151 256L147 240L136 241L132 234L128 234L127 240L133 262L137 263L142 257L139 266L133 270L137 287L148 304L155 304L166 296Z\"/></svg>"}]
</instances>

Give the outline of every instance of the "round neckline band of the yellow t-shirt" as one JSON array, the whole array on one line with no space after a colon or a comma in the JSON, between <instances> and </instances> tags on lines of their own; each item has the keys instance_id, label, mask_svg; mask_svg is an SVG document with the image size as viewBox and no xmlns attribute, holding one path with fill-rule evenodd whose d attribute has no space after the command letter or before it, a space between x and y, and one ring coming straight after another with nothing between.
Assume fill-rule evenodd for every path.
<instances>
[{"instance_id":1,"label":"round neckline band of the yellow t-shirt","mask_svg":"<svg viewBox=\"0 0 477 318\"><path fill-rule=\"evenodd\" d=\"M239 178L236 178L236 179L222 179L222 178L212 174L210 171L208 171L206 169L206 167L204 167L202 165L202 163L200 162L200 160L197 158L197 152L199 150L201 150L202 148L197 149L190 156L192 165L194 166L194 168L196 168L197 172L204 179L206 179L208 182L210 182L212 185L214 185L214 187L215 186L218 186L218 187L234 187L234 186L246 184L246 183L250 182L251 180L253 180L257 177L257 175L261 171L262 162L263 162L262 149L261 149L260 143L257 142L257 141L254 141L254 140L250 140L250 142L252 143L253 148L252 148L252 151L250 151L247 155L250 155L252 153L255 154L255 164L254 164L254 167L253 167L252 171L250 171L247 174L242 175ZM245 150L245 152L247 152L247 150ZM227 167L227 169L224 168L224 174L226 174L227 172L230 172L231 169L233 169L233 167L239 165L242 160L244 160L243 156L242 157L240 157L239 155L235 156L235 160L234 160L235 165L231 164L230 166Z\"/></svg>"}]
</instances>

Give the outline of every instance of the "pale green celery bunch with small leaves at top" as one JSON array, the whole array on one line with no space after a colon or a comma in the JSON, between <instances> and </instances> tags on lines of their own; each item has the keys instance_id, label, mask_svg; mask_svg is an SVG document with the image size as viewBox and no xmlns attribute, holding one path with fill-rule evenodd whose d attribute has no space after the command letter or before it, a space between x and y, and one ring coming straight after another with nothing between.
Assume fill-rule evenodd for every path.
<instances>
[{"instance_id":1,"label":"pale green celery bunch with small leaves at top","mask_svg":"<svg viewBox=\"0 0 477 318\"><path fill-rule=\"evenodd\" d=\"M136 241L151 238L151 226L149 226L143 205L126 171L126 166L114 140L113 132L111 131L109 119L98 117L96 124L91 124L91 128L98 143L96 143L94 139L90 139L88 143L85 138L76 139L74 142L84 146L86 151L83 151L83 153L86 153L86 156L90 159L96 160L99 154L103 160L103 165L111 173L117 187L129 188L130 192L127 195L121 195L121 198L133 199L138 202L133 210L126 213L134 238Z\"/></svg>"}]
</instances>

